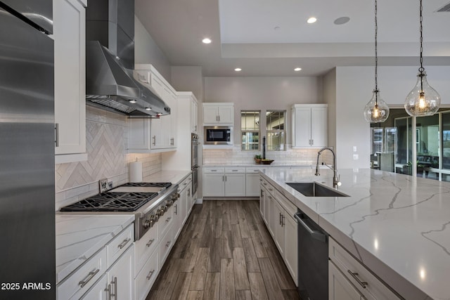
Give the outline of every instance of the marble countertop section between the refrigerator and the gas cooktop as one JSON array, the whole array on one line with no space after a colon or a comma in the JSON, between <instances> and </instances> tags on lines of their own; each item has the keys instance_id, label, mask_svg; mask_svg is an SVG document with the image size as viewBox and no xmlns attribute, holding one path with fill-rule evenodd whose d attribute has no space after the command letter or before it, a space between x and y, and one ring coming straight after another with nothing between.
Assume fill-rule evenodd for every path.
<instances>
[{"instance_id":1,"label":"marble countertop section between the refrigerator and the gas cooktop","mask_svg":"<svg viewBox=\"0 0 450 300\"><path fill-rule=\"evenodd\" d=\"M134 214L56 214L56 282L134 222Z\"/></svg>"}]
</instances>

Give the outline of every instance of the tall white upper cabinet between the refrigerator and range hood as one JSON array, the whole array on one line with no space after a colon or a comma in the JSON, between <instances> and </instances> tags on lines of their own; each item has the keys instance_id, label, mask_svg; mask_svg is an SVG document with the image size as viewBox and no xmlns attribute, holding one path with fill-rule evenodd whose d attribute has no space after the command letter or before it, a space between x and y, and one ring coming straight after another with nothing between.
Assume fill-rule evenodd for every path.
<instances>
[{"instance_id":1,"label":"tall white upper cabinet between the refrigerator and range hood","mask_svg":"<svg viewBox=\"0 0 450 300\"><path fill-rule=\"evenodd\" d=\"M56 163L86 156L86 0L53 0Z\"/></svg>"}]
</instances>

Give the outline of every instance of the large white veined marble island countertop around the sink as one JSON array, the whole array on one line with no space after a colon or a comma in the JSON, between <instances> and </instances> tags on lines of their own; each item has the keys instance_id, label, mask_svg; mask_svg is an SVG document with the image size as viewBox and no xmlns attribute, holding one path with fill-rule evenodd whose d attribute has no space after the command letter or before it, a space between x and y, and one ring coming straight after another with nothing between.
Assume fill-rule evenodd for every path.
<instances>
[{"instance_id":1,"label":"large white veined marble island countertop around the sink","mask_svg":"<svg viewBox=\"0 0 450 300\"><path fill-rule=\"evenodd\" d=\"M349 197L305 197L286 182L333 186L333 171L267 168L265 178L405 299L450 299L450 183L339 169ZM264 176L263 175L263 176Z\"/></svg>"}]
</instances>

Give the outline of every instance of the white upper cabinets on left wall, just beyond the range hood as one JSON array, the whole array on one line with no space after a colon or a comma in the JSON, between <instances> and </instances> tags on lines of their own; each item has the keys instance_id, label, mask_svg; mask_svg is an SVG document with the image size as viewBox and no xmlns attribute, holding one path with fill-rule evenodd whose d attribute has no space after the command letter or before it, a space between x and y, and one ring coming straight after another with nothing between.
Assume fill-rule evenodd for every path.
<instances>
[{"instance_id":1,"label":"white upper cabinets on left wall, just beyond the range hood","mask_svg":"<svg viewBox=\"0 0 450 300\"><path fill-rule=\"evenodd\" d=\"M153 65L136 65L139 81L151 86L170 107L158 119L128 119L128 152L165 152L176 149L178 105L174 88Z\"/></svg>"}]
</instances>

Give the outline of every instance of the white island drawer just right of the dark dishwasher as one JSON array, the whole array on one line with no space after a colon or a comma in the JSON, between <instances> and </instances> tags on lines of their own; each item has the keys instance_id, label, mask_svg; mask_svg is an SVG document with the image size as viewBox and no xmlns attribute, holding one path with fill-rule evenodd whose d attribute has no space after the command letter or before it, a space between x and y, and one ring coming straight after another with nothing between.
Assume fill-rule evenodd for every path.
<instances>
[{"instance_id":1,"label":"white island drawer just right of the dark dishwasher","mask_svg":"<svg viewBox=\"0 0 450 300\"><path fill-rule=\"evenodd\" d=\"M331 261L367 299L400 299L332 238L328 247Z\"/></svg>"}]
</instances>

